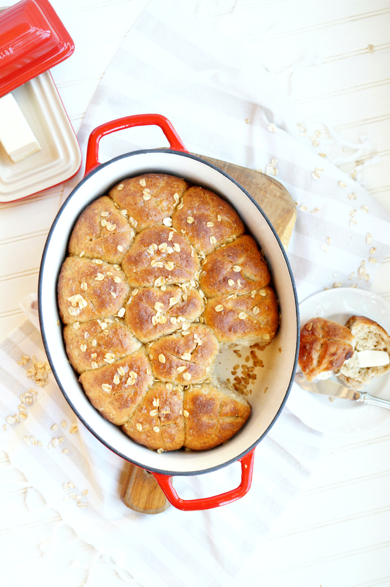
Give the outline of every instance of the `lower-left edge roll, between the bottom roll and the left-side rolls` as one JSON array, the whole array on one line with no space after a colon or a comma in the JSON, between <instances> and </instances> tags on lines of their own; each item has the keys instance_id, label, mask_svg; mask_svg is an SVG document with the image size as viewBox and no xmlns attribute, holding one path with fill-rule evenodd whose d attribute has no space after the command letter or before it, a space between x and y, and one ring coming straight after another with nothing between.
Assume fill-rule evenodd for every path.
<instances>
[{"instance_id":1,"label":"lower-left edge roll, between the bottom roll and the left-side rolls","mask_svg":"<svg viewBox=\"0 0 390 587\"><path fill-rule=\"evenodd\" d=\"M91 404L102 416L122 426L152 385L153 375L145 349L142 348L112 365L84 371L79 381Z\"/></svg>"}]
</instances>

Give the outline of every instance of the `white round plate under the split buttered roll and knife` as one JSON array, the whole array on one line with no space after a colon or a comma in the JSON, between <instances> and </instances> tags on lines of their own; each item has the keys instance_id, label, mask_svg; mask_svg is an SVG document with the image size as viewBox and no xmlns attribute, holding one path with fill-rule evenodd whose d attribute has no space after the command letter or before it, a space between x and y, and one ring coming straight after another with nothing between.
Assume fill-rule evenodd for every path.
<instances>
[{"instance_id":1,"label":"white round plate under the split buttered roll and knife","mask_svg":"<svg viewBox=\"0 0 390 587\"><path fill-rule=\"evenodd\" d=\"M350 316L356 315L367 316L390 332L390 304L363 289L327 289L301 302L299 311L301 326L316 316L344 325ZM368 391L372 396L390 400L390 373L375 377ZM385 408L352 400L331 402L328 397L306 392L296 383L286 406L307 426L338 436L372 430L390 419L390 410Z\"/></svg>"}]
</instances>

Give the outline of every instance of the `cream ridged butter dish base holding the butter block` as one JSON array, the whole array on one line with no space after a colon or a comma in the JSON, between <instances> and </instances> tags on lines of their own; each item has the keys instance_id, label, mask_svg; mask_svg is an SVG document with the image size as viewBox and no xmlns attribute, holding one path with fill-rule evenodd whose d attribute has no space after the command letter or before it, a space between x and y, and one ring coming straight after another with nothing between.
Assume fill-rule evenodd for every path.
<instances>
[{"instance_id":1,"label":"cream ridged butter dish base holding the butter block","mask_svg":"<svg viewBox=\"0 0 390 587\"><path fill-rule=\"evenodd\" d=\"M20 200L73 177L81 166L76 134L47 71L12 90L41 150L13 163L0 144L0 202Z\"/></svg>"}]
</instances>

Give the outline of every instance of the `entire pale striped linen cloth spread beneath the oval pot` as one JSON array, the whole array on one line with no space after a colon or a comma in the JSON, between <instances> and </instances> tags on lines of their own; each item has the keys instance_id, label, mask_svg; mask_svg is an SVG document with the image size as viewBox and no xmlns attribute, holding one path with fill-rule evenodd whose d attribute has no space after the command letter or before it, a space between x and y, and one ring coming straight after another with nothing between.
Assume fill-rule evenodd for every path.
<instances>
[{"instance_id":1,"label":"entire pale striped linen cloth spread beneath the oval pot","mask_svg":"<svg viewBox=\"0 0 390 587\"><path fill-rule=\"evenodd\" d=\"M84 156L96 126L149 112L167 116L190 151L269 173L278 170L278 180L298 203L289 259L300 299L335 281L370 286L379 264L368 263L370 247L377 249L379 262L389 251L388 212L299 138L296 124L302 120L260 61L187 14L182 3L150 2L129 32L78 134ZM100 160L165 143L153 127L121 131L101 141ZM312 176L316 167L324 170L319 179ZM65 197L80 177L70 182ZM357 199L348 199L350 193ZM357 210L354 216L351 208ZM357 224L350 228L351 219ZM366 269L370 266L370 281L357 279L363 259ZM143 587L237 585L240 569L312 470L321 435L285 409L256 448L254 481L242 500L204 512L132 512L118 498L123 461L82 424L79 433L70 434L76 417L52 375L41 389L26 378L31 363L17 365L21 355L45 360L34 302L30 297L23 304L31 322L16 329L0 349L1 419L17 413L19 396L29 387L39 392L26 420L0 429L12 464L80 537L110 555ZM66 428L51 430L63 420ZM46 448L60 436L64 441L57 448ZM32 444L30 437L43 446ZM63 448L70 452L62 453ZM240 467L234 464L210 475L176 478L175 487L182 497L193 498L226 491L239 478ZM76 487L64 491L69 481ZM70 493L87 507L77 507L72 498L64 501Z\"/></svg>"}]
</instances>

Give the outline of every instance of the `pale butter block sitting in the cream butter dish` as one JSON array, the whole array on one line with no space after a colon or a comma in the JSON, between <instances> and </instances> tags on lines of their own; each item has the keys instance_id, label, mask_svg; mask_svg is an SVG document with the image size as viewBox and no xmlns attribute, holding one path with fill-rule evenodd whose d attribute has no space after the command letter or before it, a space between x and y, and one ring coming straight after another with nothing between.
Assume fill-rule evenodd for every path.
<instances>
[{"instance_id":1,"label":"pale butter block sitting in the cream butter dish","mask_svg":"<svg viewBox=\"0 0 390 587\"><path fill-rule=\"evenodd\" d=\"M0 98L0 142L14 163L40 151L40 144L12 94Z\"/></svg>"}]
</instances>

